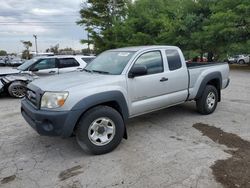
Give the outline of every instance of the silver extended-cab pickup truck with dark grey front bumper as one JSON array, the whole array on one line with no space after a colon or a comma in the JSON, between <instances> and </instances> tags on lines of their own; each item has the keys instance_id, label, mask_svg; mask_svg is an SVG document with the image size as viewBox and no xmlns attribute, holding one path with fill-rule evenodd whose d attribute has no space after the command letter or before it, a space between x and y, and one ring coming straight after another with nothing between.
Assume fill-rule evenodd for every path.
<instances>
[{"instance_id":1,"label":"silver extended-cab pickup truck with dark grey front bumper","mask_svg":"<svg viewBox=\"0 0 250 188\"><path fill-rule=\"evenodd\" d=\"M228 84L227 63L186 64L174 46L121 48L82 72L31 82L21 113L41 135L75 134L83 150L104 154L127 138L128 118L190 100L210 114Z\"/></svg>"}]
</instances>

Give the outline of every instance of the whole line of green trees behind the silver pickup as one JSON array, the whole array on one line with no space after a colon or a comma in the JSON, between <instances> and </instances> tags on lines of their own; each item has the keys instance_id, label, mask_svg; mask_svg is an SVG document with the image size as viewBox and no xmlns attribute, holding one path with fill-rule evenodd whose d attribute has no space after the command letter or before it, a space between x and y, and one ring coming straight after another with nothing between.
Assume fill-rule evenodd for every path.
<instances>
[{"instance_id":1,"label":"whole line of green trees behind the silver pickup","mask_svg":"<svg viewBox=\"0 0 250 188\"><path fill-rule=\"evenodd\" d=\"M176 45L209 61L250 53L249 0L87 0L80 16L81 42L96 53L134 45Z\"/></svg>"}]
</instances>

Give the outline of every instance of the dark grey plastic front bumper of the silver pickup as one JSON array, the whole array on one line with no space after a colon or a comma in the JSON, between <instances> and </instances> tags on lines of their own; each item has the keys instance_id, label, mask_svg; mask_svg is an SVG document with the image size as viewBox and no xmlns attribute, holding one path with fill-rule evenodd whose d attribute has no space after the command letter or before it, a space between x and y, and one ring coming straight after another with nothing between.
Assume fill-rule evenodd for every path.
<instances>
[{"instance_id":1,"label":"dark grey plastic front bumper of the silver pickup","mask_svg":"<svg viewBox=\"0 0 250 188\"><path fill-rule=\"evenodd\" d=\"M69 137L80 117L80 111L45 111L36 109L27 99L21 101L21 113L40 135Z\"/></svg>"}]
</instances>

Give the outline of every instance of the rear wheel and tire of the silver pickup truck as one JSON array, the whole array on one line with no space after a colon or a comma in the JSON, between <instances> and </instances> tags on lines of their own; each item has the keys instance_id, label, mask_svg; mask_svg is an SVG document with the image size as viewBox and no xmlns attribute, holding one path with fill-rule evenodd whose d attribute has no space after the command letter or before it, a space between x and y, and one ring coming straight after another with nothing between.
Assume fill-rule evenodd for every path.
<instances>
[{"instance_id":1,"label":"rear wheel and tire of the silver pickup truck","mask_svg":"<svg viewBox=\"0 0 250 188\"><path fill-rule=\"evenodd\" d=\"M215 111L218 103L218 91L212 85L207 85L202 96L196 101L198 112L203 115L211 114Z\"/></svg>"}]
</instances>

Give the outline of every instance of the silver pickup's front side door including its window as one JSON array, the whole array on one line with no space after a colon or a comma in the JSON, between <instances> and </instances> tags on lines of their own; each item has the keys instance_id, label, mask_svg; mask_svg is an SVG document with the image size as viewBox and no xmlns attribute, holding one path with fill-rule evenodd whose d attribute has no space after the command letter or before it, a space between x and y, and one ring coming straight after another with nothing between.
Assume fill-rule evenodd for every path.
<instances>
[{"instance_id":1,"label":"silver pickup's front side door including its window","mask_svg":"<svg viewBox=\"0 0 250 188\"><path fill-rule=\"evenodd\" d=\"M167 75L160 50L143 53L133 66L146 66L147 74L127 78L132 116L160 108L162 101L157 98L167 93Z\"/></svg>"}]
</instances>

